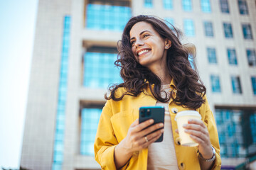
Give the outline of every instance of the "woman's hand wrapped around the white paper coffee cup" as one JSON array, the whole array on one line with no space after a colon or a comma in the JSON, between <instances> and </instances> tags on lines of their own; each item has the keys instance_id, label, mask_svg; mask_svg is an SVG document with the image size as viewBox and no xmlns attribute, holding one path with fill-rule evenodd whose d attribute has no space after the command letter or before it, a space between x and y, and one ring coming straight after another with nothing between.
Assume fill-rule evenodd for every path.
<instances>
[{"instance_id":1,"label":"woman's hand wrapped around the white paper coffee cup","mask_svg":"<svg viewBox=\"0 0 256 170\"><path fill-rule=\"evenodd\" d=\"M199 144L198 151L203 158L210 159L213 157L213 150L210 144L210 136L206 125L202 120L191 119L188 124L183 125L185 132L190 134L190 137Z\"/></svg>"}]
</instances>

